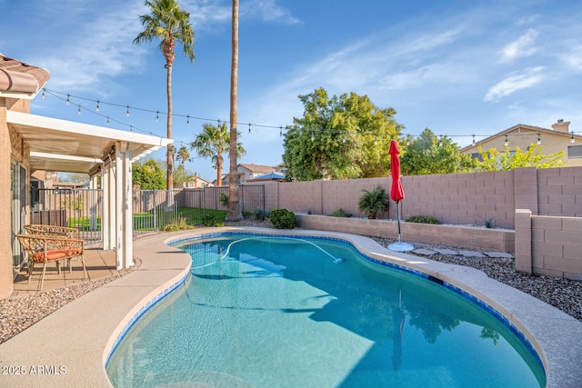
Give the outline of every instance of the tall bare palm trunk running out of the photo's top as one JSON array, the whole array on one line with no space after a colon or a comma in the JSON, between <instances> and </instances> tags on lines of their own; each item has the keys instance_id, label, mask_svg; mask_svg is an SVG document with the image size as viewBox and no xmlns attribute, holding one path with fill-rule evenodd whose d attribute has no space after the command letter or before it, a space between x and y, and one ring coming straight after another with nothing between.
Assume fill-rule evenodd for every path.
<instances>
[{"instance_id":1,"label":"tall bare palm trunk running out of the photo's top","mask_svg":"<svg viewBox=\"0 0 582 388\"><path fill-rule=\"evenodd\" d=\"M238 0L233 0L233 25L232 25L232 60L230 67L230 171L228 173L228 209L226 220L240 221L243 214L240 212L238 202L238 181L236 175L236 144L238 132L236 131L236 85L238 84Z\"/></svg>"}]
</instances>

